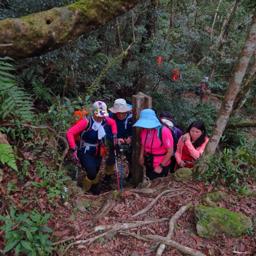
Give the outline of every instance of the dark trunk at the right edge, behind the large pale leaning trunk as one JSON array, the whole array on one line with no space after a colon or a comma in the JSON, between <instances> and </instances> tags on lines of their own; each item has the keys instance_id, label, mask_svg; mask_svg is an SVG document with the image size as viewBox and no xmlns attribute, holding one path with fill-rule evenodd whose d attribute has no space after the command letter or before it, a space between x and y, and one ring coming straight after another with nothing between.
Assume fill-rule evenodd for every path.
<instances>
[{"instance_id":1,"label":"dark trunk at the right edge, behind the large pale leaning trunk","mask_svg":"<svg viewBox=\"0 0 256 256\"><path fill-rule=\"evenodd\" d=\"M253 64L250 68L250 72L247 78L247 81L245 82L244 86L241 88L239 93L236 96L233 110L236 110L238 108L241 108L242 105L244 105L246 95L250 88L253 86L254 81L256 80L256 55L254 56Z\"/></svg>"}]
</instances>

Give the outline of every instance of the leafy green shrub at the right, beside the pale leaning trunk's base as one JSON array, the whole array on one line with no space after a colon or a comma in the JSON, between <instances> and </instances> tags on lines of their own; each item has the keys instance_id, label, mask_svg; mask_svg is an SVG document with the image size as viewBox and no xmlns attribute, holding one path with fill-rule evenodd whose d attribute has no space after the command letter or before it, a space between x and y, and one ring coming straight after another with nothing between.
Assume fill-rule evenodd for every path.
<instances>
[{"instance_id":1,"label":"leafy green shrub at the right, beside the pale leaning trunk's base","mask_svg":"<svg viewBox=\"0 0 256 256\"><path fill-rule=\"evenodd\" d=\"M206 159L207 168L201 173L198 180L206 180L207 184L221 184L230 190L244 185L250 177L256 178L255 145L244 145L232 150L225 148L211 158ZM195 166L200 166L201 161Z\"/></svg>"}]
</instances>

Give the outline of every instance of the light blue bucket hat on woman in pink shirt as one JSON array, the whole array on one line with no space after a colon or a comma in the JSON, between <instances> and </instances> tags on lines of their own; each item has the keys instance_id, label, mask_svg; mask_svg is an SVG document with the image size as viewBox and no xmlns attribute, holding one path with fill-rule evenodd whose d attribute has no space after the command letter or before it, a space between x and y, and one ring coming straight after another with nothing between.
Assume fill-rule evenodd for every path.
<instances>
[{"instance_id":1,"label":"light blue bucket hat on woman in pink shirt","mask_svg":"<svg viewBox=\"0 0 256 256\"><path fill-rule=\"evenodd\" d=\"M140 112L139 120L133 126L143 128L158 128L161 126L161 124L152 109L144 109Z\"/></svg>"}]
</instances>

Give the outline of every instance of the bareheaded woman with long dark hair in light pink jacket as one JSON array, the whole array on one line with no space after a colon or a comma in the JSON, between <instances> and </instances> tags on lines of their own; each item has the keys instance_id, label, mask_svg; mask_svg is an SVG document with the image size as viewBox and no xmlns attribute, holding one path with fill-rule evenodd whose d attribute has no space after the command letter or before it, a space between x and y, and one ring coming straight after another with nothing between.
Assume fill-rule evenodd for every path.
<instances>
[{"instance_id":1,"label":"bareheaded woman with long dark hair in light pink jacket","mask_svg":"<svg viewBox=\"0 0 256 256\"><path fill-rule=\"evenodd\" d=\"M180 167L192 168L193 162L204 152L208 138L203 121L192 122L187 129L187 133L180 137L177 144L175 158L177 160L176 170ZM190 163L188 163L190 162Z\"/></svg>"}]
</instances>

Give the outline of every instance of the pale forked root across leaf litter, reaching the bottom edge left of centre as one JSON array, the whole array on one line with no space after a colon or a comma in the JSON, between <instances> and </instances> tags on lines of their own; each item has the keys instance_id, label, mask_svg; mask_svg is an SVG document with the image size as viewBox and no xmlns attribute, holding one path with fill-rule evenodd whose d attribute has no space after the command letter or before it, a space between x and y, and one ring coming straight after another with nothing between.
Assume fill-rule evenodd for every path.
<instances>
[{"instance_id":1,"label":"pale forked root across leaf litter, reaching the bottom edge left of centre","mask_svg":"<svg viewBox=\"0 0 256 256\"><path fill-rule=\"evenodd\" d=\"M167 221L167 220L169 220L169 218L152 219L152 220L148 220L148 221L135 221L135 222L132 222L132 223L123 223L121 225L113 225L113 226L112 225L98 226L98 227L95 227L93 229L93 231L90 232L90 234L95 233L96 231L99 231L99 230L108 230L108 231L106 231L106 232L104 232L104 233L102 233L98 236L94 236L94 237L91 237L91 238L86 239L86 240L79 240L79 241L76 241L76 242L73 242L73 243L69 244L67 246L67 248L65 249L64 254L67 253L67 250L72 245L85 244L85 243L91 244L96 239L99 239L102 236L106 236L108 233L114 233L114 232L119 231L119 230L126 230L126 229L130 229L130 228L134 228L134 227L139 227L139 226L142 226L142 225L147 225L147 224L151 224L151 223L155 223L155 222L161 222L161 221Z\"/></svg>"}]
</instances>

